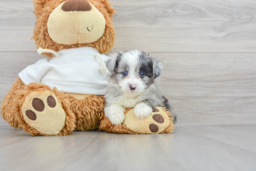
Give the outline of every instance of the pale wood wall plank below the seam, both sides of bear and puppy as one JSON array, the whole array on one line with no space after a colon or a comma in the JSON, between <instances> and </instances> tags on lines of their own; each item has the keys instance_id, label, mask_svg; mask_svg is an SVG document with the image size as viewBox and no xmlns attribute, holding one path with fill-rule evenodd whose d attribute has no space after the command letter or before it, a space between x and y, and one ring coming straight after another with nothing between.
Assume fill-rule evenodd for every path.
<instances>
[{"instance_id":1,"label":"pale wood wall plank below the seam, both sides of bear and puppy","mask_svg":"<svg viewBox=\"0 0 256 171\"><path fill-rule=\"evenodd\" d=\"M255 53L154 53L165 66L163 94L180 126L256 123ZM0 102L18 73L43 58L0 52Z\"/></svg>"}]
</instances>

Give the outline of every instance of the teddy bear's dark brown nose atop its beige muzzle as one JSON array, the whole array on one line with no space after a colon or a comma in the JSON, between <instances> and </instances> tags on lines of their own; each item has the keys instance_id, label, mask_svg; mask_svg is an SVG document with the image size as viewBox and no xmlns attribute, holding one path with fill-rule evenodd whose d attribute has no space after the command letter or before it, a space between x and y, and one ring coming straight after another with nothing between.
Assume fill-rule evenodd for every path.
<instances>
[{"instance_id":1,"label":"teddy bear's dark brown nose atop its beige muzzle","mask_svg":"<svg viewBox=\"0 0 256 171\"><path fill-rule=\"evenodd\" d=\"M66 0L61 8L63 11L90 11L91 5L87 0Z\"/></svg>"}]
</instances>

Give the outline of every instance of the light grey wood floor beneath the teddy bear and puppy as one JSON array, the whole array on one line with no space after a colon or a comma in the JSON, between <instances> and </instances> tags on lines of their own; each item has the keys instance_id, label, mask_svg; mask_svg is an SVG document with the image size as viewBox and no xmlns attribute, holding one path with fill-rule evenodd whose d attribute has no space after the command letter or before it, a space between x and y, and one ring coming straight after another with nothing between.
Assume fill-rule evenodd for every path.
<instances>
[{"instance_id":1,"label":"light grey wood floor beneath the teddy bear and puppy","mask_svg":"<svg viewBox=\"0 0 256 171\"><path fill-rule=\"evenodd\" d=\"M0 169L253 171L252 130L256 127L176 127L174 133L158 135L75 131L69 136L32 137L0 126ZM232 134L233 142L225 138L230 132L237 133ZM246 143L244 132L251 135Z\"/></svg>"}]
</instances>

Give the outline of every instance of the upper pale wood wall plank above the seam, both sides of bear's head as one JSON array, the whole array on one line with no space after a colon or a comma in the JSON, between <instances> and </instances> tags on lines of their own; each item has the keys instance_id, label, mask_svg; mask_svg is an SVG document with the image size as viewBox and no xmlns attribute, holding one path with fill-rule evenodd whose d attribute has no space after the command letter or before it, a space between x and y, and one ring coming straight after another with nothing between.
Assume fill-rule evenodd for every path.
<instances>
[{"instance_id":1,"label":"upper pale wood wall plank above the seam, both sides of bear's head","mask_svg":"<svg viewBox=\"0 0 256 171\"><path fill-rule=\"evenodd\" d=\"M256 52L254 0L111 0L112 51ZM0 1L0 51L36 51L31 0Z\"/></svg>"}]
</instances>

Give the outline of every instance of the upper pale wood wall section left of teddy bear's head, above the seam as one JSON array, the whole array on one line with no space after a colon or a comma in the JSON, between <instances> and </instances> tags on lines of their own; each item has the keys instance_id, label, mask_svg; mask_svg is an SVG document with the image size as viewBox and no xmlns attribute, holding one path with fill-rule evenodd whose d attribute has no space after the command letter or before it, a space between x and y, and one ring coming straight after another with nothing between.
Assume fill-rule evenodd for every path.
<instances>
[{"instance_id":1,"label":"upper pale wood wall section left of teddy bear's head, above the seam","mask_svg":"<svg viewBox=\"0 0 256 171\"><path fill-rule=\"evenodd\" d=\"M36 51L32 0L0 1L0 51Z\"/></svg>"}]
</instances>

